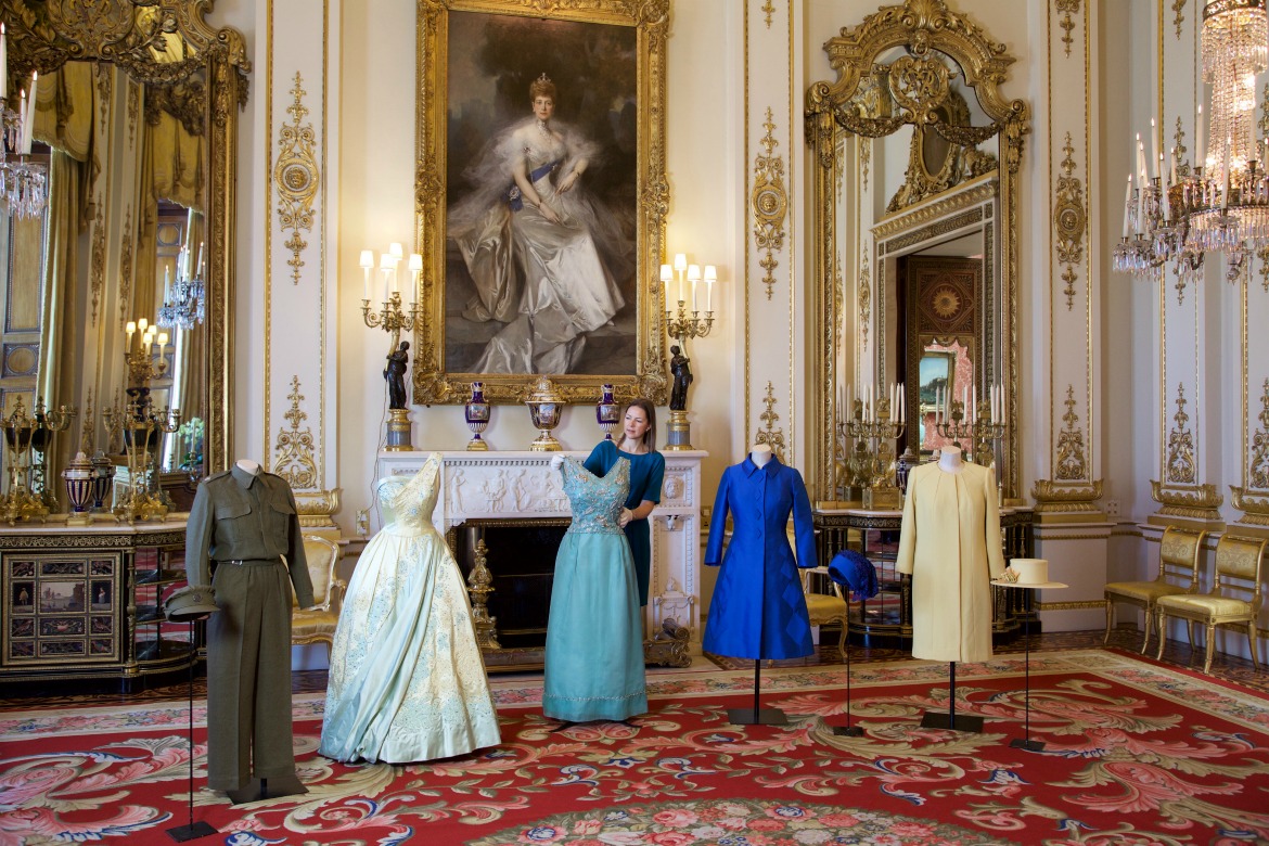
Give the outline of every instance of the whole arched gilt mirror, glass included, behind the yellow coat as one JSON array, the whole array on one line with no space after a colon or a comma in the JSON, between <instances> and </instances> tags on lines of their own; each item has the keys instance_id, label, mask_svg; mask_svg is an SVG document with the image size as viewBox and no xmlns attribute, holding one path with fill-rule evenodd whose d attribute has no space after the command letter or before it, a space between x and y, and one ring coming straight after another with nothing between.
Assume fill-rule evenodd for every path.
<instances>
[{"instance_id":1,"label":"whole arched gilt mirror, glass included, behind the yellow coat","mask_svg":"<svg viewBox=\"0 0 1269 846\"><path fill-rule=\"evenodd\" d=\"M902 383L897 446L929 454L934 401L1003 386L986 460L1018 491L1018 169L1028 107L1004 44L943 0L882 6L825 43L836 79L806 95L813 151L815 496L849 483L832 421L845 388ZM970 444L966 444L967 453Z\"/></svg>"}]
</instances>

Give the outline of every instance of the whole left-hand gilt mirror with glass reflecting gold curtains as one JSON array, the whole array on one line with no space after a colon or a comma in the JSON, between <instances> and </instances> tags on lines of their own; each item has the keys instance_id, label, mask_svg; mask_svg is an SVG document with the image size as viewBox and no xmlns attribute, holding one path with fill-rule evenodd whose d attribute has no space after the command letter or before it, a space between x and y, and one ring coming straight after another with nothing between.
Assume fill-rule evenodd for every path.
<instances>
[{"instance_id":1,"label":"whole left-hand gilt mirror with glass reflecting gold curtains","mask_svg":"<svg viewBox=\"0 0 1269 846\"><path fill-rule=\"evenodd\" d=\"M164 439L161 469L197 478L231 459L237 115L250 62L239 32L207 23L211 8L0 0L9 104L34 71L32 151L48 169L42 216L0 216L0 398L5 413L15 396L27 408L34 397L77 407L51 479L75 450L119 452L103 411L127 413L138 387L189 424ZM142 348L142 320L168 344Z\"/></svg>"}]
</instances>

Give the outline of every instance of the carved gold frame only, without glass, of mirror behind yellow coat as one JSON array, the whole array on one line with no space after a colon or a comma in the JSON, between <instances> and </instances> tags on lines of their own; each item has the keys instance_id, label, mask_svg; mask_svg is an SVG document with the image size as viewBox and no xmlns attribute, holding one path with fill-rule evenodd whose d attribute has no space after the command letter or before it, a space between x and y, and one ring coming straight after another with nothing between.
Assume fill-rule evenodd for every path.
<instances>
[{"instance_id":1,"label":"carved gold frame only, without glass, of mirror behind yellow coat","mask_svg":"<svg viewBox=\"0 0 1269 846\"><path fill-rule=\"evenodd\" d=\"M895 48L904 56L892 61L888 72L877 72L878 60ZM820 327L812 340L811 464L807 468L813 496L832 498L836 419L835 386L843 326L843 275L839 260L839 221L836 185L843 169L843 140L849 136L879 138L905 124L916 131L934 129L956 145L977 145L999 136L1000 160L1000 274L1003 326L996 342L1003 344L999 360L1000 382L1005 386L1005 419L1009 422L1004 444L1004 469L1000 481L1005 496L1018 491L1018 169L1023 136L1028 132L1029 109L1023 100L1010 100L1000 91L1015 61L1004 44L994 43L976 24L950 11L944 0L906 0L882 6L857 27L843 28L825 46L836 79L811 85L806 93L806 138L813 151L812 179L812 257L815 316ZM972 89L990 123L981 127L953 126L940 113L952 95L948 65L959 68L966 88ZM855 95L863 93L862 80L887 77L893 105L878 114L859 114ZM853 340L850 341L853 342Z\"/></svg>"}]
</instances>

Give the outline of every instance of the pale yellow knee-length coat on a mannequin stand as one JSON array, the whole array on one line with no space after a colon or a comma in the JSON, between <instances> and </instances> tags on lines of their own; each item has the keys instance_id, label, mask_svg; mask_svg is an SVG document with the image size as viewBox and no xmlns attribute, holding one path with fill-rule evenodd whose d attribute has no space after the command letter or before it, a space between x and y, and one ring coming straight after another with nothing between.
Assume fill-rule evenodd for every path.
<instances>
[{"instance_id":1,"label":"pale yellow knee-length coat on a mannequin stand","mask_svg":"<svg viewBox=\"0 0 1269 846\"><path fill-rule=\"evenodd\" d=\"M990 658L990 582L1005 569L995 472L914 468L895 568L912 576L914 658Z\"/></svg>"}]
</instances>

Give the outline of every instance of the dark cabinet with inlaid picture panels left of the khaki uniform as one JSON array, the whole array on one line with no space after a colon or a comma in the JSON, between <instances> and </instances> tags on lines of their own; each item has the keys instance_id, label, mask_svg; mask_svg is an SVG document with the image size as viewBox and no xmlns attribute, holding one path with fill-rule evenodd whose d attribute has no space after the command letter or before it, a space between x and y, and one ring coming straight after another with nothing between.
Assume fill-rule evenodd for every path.
<instances>
[{"instance_id":1,"label":"dark cabinet with inlaid picture panels left of the khaki uniform","mask_svg":"<svg viewBox=\"0 0 1269 846\"><path fill-rule=\"evenodd\" d=\"M162 615L185 582L184 549L184 524L173 521L0 530L0 687L96 680L133 690L188 671L201 633Z\"/></svg>"}]
</instances>

